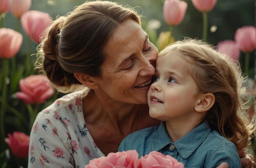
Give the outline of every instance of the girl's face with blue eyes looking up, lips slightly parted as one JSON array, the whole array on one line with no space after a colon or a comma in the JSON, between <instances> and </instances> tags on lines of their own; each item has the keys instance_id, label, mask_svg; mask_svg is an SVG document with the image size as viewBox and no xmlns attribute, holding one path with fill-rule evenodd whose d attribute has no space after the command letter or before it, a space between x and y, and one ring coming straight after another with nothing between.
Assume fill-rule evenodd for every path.
<instances>
[{"instance_id":1,"label":"girl's face with blue eyes looking up, lips slightly parted","mask_svg":"<svg viewBox=\"0 0 256 168\"><path fill-rule=\"evenodd\" d=\"M175 51L157 58L153 84L148 91L149 114L162 121L190 120L198 103L198 87L190 75L193 66Z\"/></svg>"}]
</instances>

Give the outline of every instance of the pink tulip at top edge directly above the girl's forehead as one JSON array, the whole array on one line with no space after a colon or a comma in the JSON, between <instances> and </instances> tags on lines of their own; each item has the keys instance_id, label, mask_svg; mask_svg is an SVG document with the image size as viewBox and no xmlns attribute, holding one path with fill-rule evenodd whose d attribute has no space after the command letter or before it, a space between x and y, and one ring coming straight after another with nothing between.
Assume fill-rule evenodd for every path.
<instances>
[{"instance_id":1,"label":"pink tulip at top edge directly above the girl's forehead","mask_svg":"<svg viewBox=\"0 0 256 168\"><path fill-rule=\"evenodd\" d=\"M176 26L182 22L188 4L181 0L165 0L163 13L168 25Z\"/></svg>"}]
</instances>

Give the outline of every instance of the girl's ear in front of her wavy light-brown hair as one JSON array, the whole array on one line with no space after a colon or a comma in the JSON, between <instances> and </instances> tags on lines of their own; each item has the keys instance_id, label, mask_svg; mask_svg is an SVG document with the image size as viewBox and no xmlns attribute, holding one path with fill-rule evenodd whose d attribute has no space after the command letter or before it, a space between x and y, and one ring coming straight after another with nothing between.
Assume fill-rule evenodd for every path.
<instances>
[{"instance_id":1,"label":"girl's ear in front of her wavy light-brown hair","mask_svg":"<svg viewBox=\"0 0 256 168\"><path fill-rule=\"evenodd\" d=\"M197 112L206 112L215 103L215 96L212 93L203 94L198 99L198 103L195 105L195 111Z\"/></svg>"}]
</instances>

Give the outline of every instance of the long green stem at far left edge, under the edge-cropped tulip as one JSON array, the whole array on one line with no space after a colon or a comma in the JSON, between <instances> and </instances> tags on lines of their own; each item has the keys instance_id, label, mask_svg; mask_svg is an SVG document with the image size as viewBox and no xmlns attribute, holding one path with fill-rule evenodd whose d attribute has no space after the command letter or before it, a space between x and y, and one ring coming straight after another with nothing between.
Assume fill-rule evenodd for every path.
<instances>
[{"instance_id":1,"label":"long green stem at far left edge, under the edge-cropped tulip","mask_svg":"<svg viewBox=\"0 0 256 168\"><path fill-rule=\"evenodd\" d=\"M9 74L9 65L8 65L8 59L3 59L3 67L2 67L2 72L3 72L3 85L2 85L2 100L3 102L6 102L6 98L7 98L7 83L6 80L8 78L8 74ZM5 115L5 106L3 105L4 103L1 103L1 111L0 111L0 128L1 128L1 150L4 146L4 137L5 137L5 131L4 131L4 115Z\"/></svg>"}]
</instances>

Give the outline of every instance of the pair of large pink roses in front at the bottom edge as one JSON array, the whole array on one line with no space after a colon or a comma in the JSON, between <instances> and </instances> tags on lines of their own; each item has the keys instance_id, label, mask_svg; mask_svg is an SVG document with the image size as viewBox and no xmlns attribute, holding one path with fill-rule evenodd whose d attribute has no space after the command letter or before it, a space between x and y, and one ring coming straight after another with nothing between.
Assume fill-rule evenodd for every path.
<instances>
[{"instance_id":1,"label":"pair of large pink roses in front at the bottom edge","mask_svg":"<svg viewBox=\"0 0 256 168\"><path fill-rule=\"evenodd\" d=\"M92 159L85 168L184 168L184 165L170 155L157 151L139 158L136 150L130 150Z\"/></svg>"}]
</instances>

